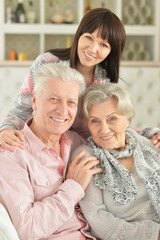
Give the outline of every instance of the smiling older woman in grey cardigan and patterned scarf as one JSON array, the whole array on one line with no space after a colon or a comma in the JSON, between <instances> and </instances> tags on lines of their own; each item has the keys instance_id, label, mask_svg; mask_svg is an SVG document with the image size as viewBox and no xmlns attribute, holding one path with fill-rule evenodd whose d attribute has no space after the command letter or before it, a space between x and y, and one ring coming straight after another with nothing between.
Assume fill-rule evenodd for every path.
<instances>
[{"instance_id":1,"label":"smiling older woman in grey cardigan and patterned scarf","mask_svg":"<svg viewBox=\"0 0 160 240\"><path fill-rule=\"evenodd\" d=\"M82 118L92 136L74 154L83 149L104 169L80 201L98 239L160 239L160 157L129 127L134 115L129 93L114 83L94 86L83 96Z\"/></svg>"}]
</instances>

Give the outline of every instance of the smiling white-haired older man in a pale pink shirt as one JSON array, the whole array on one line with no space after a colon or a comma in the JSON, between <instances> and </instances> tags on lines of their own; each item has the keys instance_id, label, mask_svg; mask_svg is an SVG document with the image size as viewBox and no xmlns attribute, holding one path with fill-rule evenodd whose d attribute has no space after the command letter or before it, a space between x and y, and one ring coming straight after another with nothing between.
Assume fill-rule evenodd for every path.
<instances>
[{"instance_id":1,"label":"smiling white-haired older man in a pale pink shirt","mask_svg":"<svg viewBox=\"0 0 160 240\"><path fill-rule=\"evenodd\" d=\"M93 174L95 157L80 152L67 165L70 152L84 140L67 131L76 116L78 96L85 89L80 73L59 64L36 73L33 118L22 132L26 148L0 153L0 202L10 214L21 240L95 239L77 203Z\"/></svg>"}]
</instances>

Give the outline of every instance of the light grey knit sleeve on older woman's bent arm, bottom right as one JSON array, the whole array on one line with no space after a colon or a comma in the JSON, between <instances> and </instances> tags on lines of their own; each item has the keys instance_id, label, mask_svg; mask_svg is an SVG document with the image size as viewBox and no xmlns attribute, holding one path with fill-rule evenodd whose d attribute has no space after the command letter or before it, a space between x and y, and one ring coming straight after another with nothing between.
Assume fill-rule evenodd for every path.
<instances>
[{"instance_id":1,"label":"light grey knit sleeve on older woman's bent arm, bottom right","mask_svg":"<svg viewBox=\"0 0 160 240\"><path fill-rule=\"evenodd\" d=\"M82 212L90 225L91 233L98 239L158 240L160 225L153 221L127 222L115 217L104 205L102 191L94 179L80 201Z\"/></svg>"}]
</instances>

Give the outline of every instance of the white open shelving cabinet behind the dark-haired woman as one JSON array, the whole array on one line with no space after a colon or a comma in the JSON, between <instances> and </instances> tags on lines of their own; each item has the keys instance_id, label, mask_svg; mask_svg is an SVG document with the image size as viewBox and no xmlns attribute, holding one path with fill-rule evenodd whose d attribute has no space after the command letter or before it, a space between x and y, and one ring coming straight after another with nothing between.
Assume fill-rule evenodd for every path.
<instances>
[{"instance_id":1,"label":"white open shelving cabinet behind the dark-haired woman","mask_svg":"<svg viewBox=\"0 0 160 240\"><path fill-rule=\"evenodd\" d=\"M67 0L57 0L60 4L62 14L65 12ZM17 0L0 0L0 61L9 59L9 51L15 48L17 51L29 52L28 42L32 42L34 54L28 60L34 60L35 55L50 49L52 47L66 47L71 43L73 36L78 28L81 18L84 15L86 0L70 0L72 11L74 13L73 24L51 24L48 23L51 19L51 14L55 12L55 1L50 0L33 0L36 11L35 24L8 24L6 18L7 7L12 3L12 7L16 7ZM137 2L144 4L144 6L137 6ZM25 9L27 11L28 0L23 0ZM124 22L127 42L124 48L122 60L123 61L160 61L160 2L159 0L103 0L106 8L111 9ZM128 6L128 8L126 8ZM99 0L91 1L91 8L101 7ZM141 8L141 9L140 9ZM126 13L126 11L128 11ZM143 25L135 24L134 14L150 14L150 21L143 22ZM127 23L127 16L132 19L132 24ZM143 17L143 16L141 16ZM16 41L17 38L17 41ZM33 42L35 41L35 44ZM38 41L38 42L37 42ZM20 42L23 42L23 46ZM130 51L130 44L134 42L143 44L143 52L137 53L139 57ZM36 50L35 50L35 45ZM26 49L25 49L26 47ZM127 52L130 51L130 52Z\"/></svg>"}]
</instances>

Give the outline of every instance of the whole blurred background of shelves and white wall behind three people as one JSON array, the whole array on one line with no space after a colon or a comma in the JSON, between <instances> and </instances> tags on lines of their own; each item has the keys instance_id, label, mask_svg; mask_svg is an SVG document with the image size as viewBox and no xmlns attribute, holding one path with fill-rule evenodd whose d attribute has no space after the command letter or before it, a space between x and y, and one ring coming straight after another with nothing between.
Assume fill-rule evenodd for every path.
<instances>
[{"instance_id":1,"label":"whole blurred background of shelves and white wall behind three people","mask_svg":"<svg viewBox=\"0 0 160 240\"><path fill-rule=\"evenodd\" d=\"M125 26L120 78L135 105L133 126L160 127L159 0L0 0L0 121L33 60L69 47L81 18L96 7L109 8Z\"/></svg>"}]
</instances>

